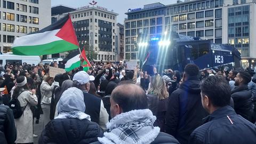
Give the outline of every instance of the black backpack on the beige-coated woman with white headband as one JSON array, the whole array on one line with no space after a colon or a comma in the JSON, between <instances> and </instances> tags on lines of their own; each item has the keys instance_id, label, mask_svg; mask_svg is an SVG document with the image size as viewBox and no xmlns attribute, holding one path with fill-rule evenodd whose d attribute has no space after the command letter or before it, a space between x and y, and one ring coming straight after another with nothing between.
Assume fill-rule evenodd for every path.
<instances>
[{"instance_id":1,"label":"black backpack on the beige-coated woman with white headband","mask_svg":"<svg viewBox=\"0 0 256 144\"><path fill-rule=\"evenodd\" d=\"M24 91L22 91L22 92L24 92ZM22 92L20 92L20 94L21 94ZM19 94L19 95L20 95L20 94ZM27 105L28 105L28 103L27 103ZM10 101L9 107L12 109L12 111L13 111L13 116L14 116L15 119L20 118L20 117L22 116L23 111L24 111L24 109L27 107L27 105L26 105L24 108L22 108L22 107L20 106L20 102L19 102L19 100L18 100L18 97L15 98L15 99L13 98L13 99Z\"/></svg>"}]
</instances>

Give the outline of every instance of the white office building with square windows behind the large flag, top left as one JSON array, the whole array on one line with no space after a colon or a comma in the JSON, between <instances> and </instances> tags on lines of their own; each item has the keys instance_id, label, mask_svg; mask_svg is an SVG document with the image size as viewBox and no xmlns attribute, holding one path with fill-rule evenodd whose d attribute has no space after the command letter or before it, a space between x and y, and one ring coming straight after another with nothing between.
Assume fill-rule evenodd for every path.
<instances>
[{"instance_id":1,"label":"white office building with square windows behind the large flag, top left","mask_svg":"<svg viewBox=\"0 0 256 144\"><path fill-rule=\"evenodd\" d=\"M0 52L11 52L15 38L51 25L50 0L0 1Z\"/></svg>"}]
</instances>

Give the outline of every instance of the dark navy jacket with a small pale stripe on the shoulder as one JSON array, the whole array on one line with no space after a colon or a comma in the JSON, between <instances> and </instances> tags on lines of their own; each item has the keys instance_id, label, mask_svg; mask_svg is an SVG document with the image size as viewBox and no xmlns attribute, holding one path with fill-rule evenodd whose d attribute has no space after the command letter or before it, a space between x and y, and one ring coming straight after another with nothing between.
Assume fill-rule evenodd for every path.
<instances>
[{"instance_id":1,"label":"dark navy jacket with a small pale stripe on the shoulder","mask_svg":"<svg viewBox=\"0 0 256 144\"><path fill-rule=\"evenodd\" d=\"M215 110L191 135L189 144L255 144L256 126L237 115L230 106Z\"/></svg>"}]
</instances>

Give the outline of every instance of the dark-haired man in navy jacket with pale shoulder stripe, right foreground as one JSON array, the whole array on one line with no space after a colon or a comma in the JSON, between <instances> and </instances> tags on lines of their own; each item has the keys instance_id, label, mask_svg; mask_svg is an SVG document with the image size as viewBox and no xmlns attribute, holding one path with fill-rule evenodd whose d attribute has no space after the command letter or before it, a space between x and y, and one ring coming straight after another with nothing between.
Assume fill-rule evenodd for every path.
<instances>
[{"instance_id":1,"label":"dark-haired man in navy jacket with pale shoulder stripe, right foreground","mask_svg":"<svg viewBox=\"0 0 256 144\"><path fill-rule=\"evenodd\" d=\"M229 84L222 76L210 76L202 82L202 105L210 115L190 135L190 144L256 143L256 126L228 106L230 95Z\"/></svg>"}]
</instances>

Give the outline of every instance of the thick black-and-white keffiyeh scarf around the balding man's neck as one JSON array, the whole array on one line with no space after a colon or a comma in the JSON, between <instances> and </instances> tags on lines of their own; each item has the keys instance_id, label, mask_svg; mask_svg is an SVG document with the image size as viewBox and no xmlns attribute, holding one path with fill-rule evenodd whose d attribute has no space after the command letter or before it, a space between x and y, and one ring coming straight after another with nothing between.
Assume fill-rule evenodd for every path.
<instances>
[{"instance_id":1,"label":"thick black-and-white keffiyeh scarf around the balding man's neck","mask_svg":"<svg viewBox=\"0 0 256 144\"><path fill-rule=\"evenodd\" d=\"M132 110L115 116L107 123L103 138L98 138L103 144L113 143L151 143L160 132L154 127L156 116L149 109Z\"/></svg>"}]
</instances>

